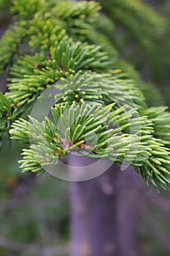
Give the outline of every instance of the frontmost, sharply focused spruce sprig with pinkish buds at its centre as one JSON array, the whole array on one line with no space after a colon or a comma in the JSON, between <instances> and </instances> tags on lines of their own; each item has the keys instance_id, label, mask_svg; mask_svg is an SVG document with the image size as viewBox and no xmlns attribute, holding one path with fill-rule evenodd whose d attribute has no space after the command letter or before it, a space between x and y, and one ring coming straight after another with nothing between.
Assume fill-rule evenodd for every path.
<instances>
[{"instance_id":1,"label":"frontmost, sharply focused spruce sprig with pinkish buds at its centre","mask_svg":"<svg viewBox=\"0 0 170 256\"><path fill-rule=\"evenodd\" d=\"M145 181L150 180L155 186L161 181L163 188L169 187L169 148L152 137L152 122L145 116L139 117L135 109L127 111L128 106L112 110L114 105L103 107L99 103L83 102L70 106L66 102L52 108L55 124L49 118L42 123L34 118L30 122L15 121L10 130L12 139L31 143L20 160L23 170L32 168L36 172L40 170L37 166L42 165L42 171L43 167L76 150L87 157L119 163L125 159L126 164L134 165L136 170L140 168ZM33 155L34 150L36 165L33 167L29 153Z\"/></svg>"}]
</instances>

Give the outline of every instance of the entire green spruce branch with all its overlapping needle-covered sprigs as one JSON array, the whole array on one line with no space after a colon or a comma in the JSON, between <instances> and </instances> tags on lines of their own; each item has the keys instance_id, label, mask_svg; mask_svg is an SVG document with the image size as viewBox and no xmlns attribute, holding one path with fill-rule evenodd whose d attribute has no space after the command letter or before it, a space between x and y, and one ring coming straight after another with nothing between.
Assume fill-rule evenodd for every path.
<instances>
[{"instance_id":1,"label":"entire green spruce branch with all its overlapping needle-covered sprigs","mask_svg":"<svg viewBox=\"0 0 170 256\"><path fill-rule=\"evenodd\" d=\"M31 142L20 160L24 172L41 173L63 155L78 151L134 165L147 183L167 189L169 113L147 108L138 75L97 29L99 9L93 1L12 1L15 21L0 42L0 71L9 72L8 91L0 95L1 140L12 125L12 139ZM139 9L136 15L141 15ZM147 20L149 14L141 18ZM161 37L164 21L155 24L152 19L154 13L150 26L156 26ZM131 18L128 21L130 26ZM146 37L150 26L144 30ZM54 122L31 116L26 121L26 113L48 88L59 90L51 109Z\"/></svg>"}]
</instances>

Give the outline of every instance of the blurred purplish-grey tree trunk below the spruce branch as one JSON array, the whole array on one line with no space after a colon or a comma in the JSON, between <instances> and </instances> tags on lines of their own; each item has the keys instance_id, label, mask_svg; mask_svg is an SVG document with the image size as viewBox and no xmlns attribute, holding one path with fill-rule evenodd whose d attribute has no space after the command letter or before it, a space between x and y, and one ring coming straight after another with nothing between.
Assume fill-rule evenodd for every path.
<instances>
[{"instance_id":1,"label":"blurred purplish-grey tree trunk below the spruce branch","mask_svg":"<svg viewBox=\"0 0 170 256\"><path fill-rule=\"evenodd\" d=\"M71 157L69 165L75 162L78 157ZM89 159L81 158L82 166L87 162ZM72 182L71 256L140 255L139 183L132 167L123 173L117 164L97 178Z\"/></svg>"}]
</instances>

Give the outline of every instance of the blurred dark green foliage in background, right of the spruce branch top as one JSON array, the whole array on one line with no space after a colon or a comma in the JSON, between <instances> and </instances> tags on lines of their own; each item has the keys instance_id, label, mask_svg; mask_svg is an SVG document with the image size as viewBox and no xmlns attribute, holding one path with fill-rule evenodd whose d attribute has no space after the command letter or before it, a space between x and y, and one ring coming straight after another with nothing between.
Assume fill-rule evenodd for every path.
<instances>
[{"instance_id":1,"label":"blurred dark green foliage in background, right of the spruce branch top","mask_svg":"<svg viewBox=\"0 0 170 256\"><path fill-rule=\"evenodd\" d=\"M161 83L163 90L163 83L169 82L169 20L154 12L144 1L98 1L109 16L109 23L114 24L115 31L112 36L109 33L109 40L145 78L151 78L158 86ZM158 11L163 7L169 10L166 1L158 2ZM106 30L103 29L104 34L108 34Z\"/></svg>"}]
</instances>

